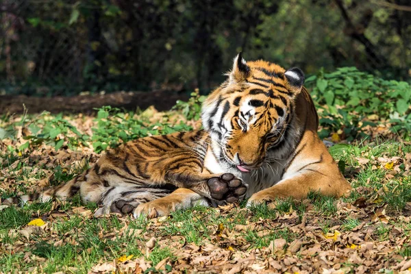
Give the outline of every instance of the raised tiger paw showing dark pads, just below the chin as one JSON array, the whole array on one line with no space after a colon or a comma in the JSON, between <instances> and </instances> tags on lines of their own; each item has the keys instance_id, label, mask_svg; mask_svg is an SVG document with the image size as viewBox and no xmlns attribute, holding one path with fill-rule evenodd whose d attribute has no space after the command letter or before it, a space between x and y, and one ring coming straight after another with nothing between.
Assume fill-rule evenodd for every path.
<instances>
[{"instance_id":1,"label":"raised tiger paw showing dark pads, just below the chin","mask_svg":"<svg viewBox=\"0 0 411 274\"><path fill-rule=\"evenodd\" d=\"M248 187L241 179L231 173L224 173L220 177L212 177L208 179L207 185L210 188L212 199L227 203L234 203L245 197Z\"/></svg>"}]
</instances>

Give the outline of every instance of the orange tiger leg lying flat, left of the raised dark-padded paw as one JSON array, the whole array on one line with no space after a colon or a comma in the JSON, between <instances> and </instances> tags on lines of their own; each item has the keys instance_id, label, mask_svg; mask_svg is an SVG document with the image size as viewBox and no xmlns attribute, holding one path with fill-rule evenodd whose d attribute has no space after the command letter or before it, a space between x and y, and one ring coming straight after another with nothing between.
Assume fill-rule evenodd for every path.
<instances>
[{"instance_id":1,"label":"orange tiger leg lying flat, left of the raised dark-padded paw","mask_svg":"<svg viewBox=\"0 0 411 274\"><path fill-rule=\"evenodd\" d=\"M149 218L166 216L176 210L185 210L193 206L210 206L208 199L187 188L178 188L166 197L155 199L147 203L140 203L134 210L134 218L144 214Z\"/></svg>"}]
</instances>

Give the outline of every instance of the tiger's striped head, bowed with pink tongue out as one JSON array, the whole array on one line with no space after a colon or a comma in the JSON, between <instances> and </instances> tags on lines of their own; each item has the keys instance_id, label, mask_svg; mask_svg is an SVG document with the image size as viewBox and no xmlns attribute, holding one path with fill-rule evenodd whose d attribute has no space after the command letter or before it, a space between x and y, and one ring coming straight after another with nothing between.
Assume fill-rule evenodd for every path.
<instances>
[{"instance_id":1,"label":"tiger's striped head, bowed with pink tongue out","mask_svg":"<svg viewBox=\"0 0 411 274\"><path fill-rule=\"evenodd\" d=\"M285 142L304 74L263 60L245 62L240 53L227 76L203 103L203 127L220 162L249 172Z\"/></svg>"}]
</instances>

